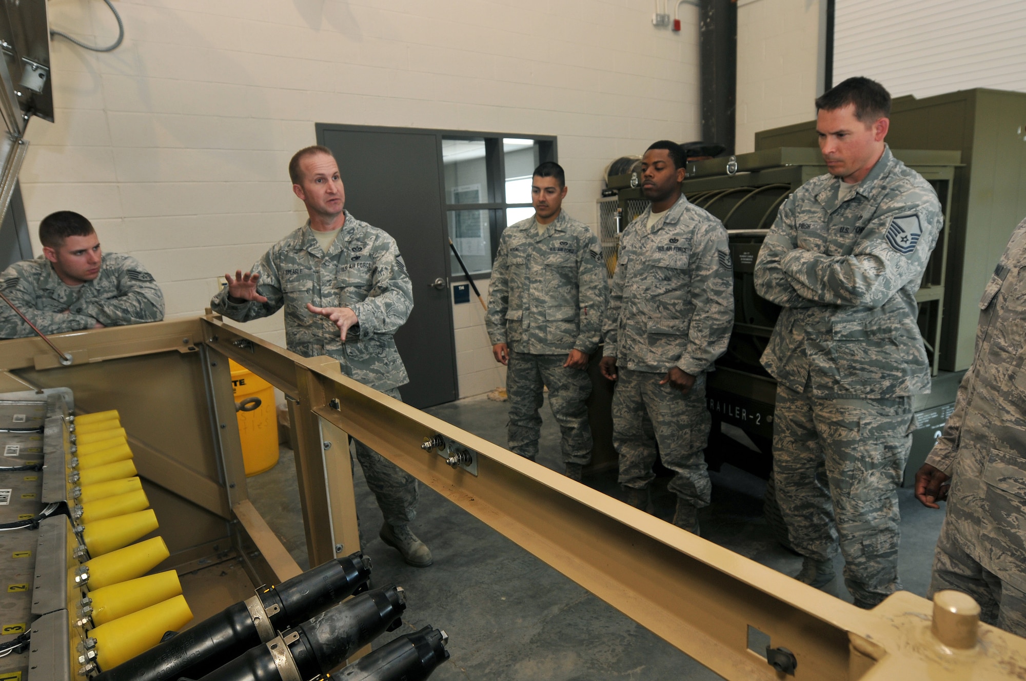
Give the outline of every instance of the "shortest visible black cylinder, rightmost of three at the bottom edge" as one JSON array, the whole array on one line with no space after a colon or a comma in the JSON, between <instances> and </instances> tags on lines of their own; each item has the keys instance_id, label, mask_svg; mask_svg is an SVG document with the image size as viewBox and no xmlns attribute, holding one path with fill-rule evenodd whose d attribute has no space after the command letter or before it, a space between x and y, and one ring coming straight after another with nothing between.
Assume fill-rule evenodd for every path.
<instances>
[{"instance_id":1,"label":"shortest visible black cylinder, rightmost of three at the bottom edge","mask_svg":"<svg viewBox=\"0 0 1026 681\"><path fill-rule=\"evenodd\" d=\"M445 632L425 627L383 645L334 676L340 681L422 681L448 659L446 643Z\"/></svg>"}]
</instances>

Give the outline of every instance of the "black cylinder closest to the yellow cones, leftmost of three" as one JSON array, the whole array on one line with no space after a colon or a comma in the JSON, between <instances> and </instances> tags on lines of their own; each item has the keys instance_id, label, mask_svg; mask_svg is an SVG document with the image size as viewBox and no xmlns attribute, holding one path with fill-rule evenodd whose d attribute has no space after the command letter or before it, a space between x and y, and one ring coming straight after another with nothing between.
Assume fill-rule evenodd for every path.
<instances>
[{"instance_id":1,"label":"black cylinder closest to the yellow cones, leftmost of three","mask_svg":"<svg viewBox=\"0 0 1026 681\"><path fill-rule=\"evenodd\" d=\"M369 578L370 559L363 554L329 560L277 587L261 587L254 597L259 603L249 599L227 607L128 662L104 670L94 681L199 678L271 640L278 631L309 619L360 591Z\"/></svg>"}]
</instances>

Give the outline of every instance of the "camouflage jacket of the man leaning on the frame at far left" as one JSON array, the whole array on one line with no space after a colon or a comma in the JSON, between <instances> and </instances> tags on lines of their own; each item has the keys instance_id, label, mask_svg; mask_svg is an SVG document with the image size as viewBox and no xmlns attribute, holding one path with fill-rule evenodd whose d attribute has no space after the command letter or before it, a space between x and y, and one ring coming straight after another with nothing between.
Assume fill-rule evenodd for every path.
<instances>
[{"instance_id":1,"label":"camouflage jacket of the man leaning on the frame at far left","mask_svg":"<svg viewBox=\"0 0 1026 681\"><path fill-rule=\"evenodd\" d=\"M134 257L120 253L104 253L100 276L75 287L61 281L45 257L14 263L0 274L0 290L43 333L164 318L164 295L153 276ZM35 332L0 301L0 337L28 335Z\"/></svg>"}]
</instances>

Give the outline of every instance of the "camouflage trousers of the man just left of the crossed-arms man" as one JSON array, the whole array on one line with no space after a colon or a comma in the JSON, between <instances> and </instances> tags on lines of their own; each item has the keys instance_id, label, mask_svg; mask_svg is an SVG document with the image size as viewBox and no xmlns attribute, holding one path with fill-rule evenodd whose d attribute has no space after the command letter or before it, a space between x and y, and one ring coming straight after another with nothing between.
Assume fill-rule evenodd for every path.
<instances>
[{"instance_id":1,"label":"camouflage trousers of the man just left of the crossed-arms man","mask_svg":"<svg viewBox=\"0 0 1026 681\"><path fill-rule=\"evenodd\" d=\"M700 376L686 395L664 373L618 369L613 392L613 444L620 454L620 484L644 489L656 478L656 443L663 465L673 471L669 490L696 508L709 506L712 483L703 450L709 442L712 417L706 406L705 380ZM645 427L645 415L655 432Z\"/></svg>"}]
</instances>

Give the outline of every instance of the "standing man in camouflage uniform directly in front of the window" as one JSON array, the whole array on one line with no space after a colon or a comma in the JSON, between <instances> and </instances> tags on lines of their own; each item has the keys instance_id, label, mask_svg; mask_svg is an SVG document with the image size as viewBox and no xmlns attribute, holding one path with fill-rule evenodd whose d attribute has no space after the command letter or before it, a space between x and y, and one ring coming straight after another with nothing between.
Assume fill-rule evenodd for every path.
<instances>
[{"instance_id":1,"label":"standing man in camouflage uniform directly in front of the window","mask_svg":"<svg viewBox=\"0 0 1026 681\"><path fill-rule=\"evenodd\" d=\"M535 215L503 232L491 268L485 325L496 361L506 364L509 447L535 460L543 389L562 433L566 475L591 463L588 359L598 348L609 286L595 233L562 210L563 169L535 168Z\"/></svg>"}]
</instances>

